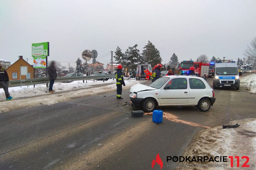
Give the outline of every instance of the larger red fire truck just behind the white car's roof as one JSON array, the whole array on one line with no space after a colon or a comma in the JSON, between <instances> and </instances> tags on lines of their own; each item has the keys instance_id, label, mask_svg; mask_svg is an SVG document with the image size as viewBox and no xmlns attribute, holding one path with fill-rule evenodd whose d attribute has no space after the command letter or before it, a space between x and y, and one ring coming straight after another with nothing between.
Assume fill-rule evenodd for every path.
<instances>
[{"instance_id":1,"label":"larger red fire truck just behind the white car's roof","mask_svg":"<svg viewBox=\"0 0 256 170\"><path fill-rule=\"evenodd\" d=\"M184 75L189 73L189 68L194 67L196 76L203 77L209 76L209 65L210 63L201 63L196 61L182 61L180 67L182 68L182 73Z\"/></svg>"}]
</instances>

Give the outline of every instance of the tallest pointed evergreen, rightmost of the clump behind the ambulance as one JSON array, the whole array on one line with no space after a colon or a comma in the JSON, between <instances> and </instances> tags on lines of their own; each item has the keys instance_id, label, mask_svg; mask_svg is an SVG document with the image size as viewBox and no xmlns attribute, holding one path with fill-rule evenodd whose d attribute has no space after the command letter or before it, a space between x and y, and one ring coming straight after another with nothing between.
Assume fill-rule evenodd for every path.
<instances>
[{"instance_id":1,"label":"tallest pointed evergreen, rightmost of the clump behind the ambulance","mask_svg":"<svg viewBox=\"0 0 256 170\"><path fill-rule=\"evenodd\" d=\"M142 56L144 57L145 64L151 64L151 66L155 66L158 63L161 63L163 60L160 56L160 52L152 42L148 41L147 45L143 47Z\"/></svg>"}]
</instances>

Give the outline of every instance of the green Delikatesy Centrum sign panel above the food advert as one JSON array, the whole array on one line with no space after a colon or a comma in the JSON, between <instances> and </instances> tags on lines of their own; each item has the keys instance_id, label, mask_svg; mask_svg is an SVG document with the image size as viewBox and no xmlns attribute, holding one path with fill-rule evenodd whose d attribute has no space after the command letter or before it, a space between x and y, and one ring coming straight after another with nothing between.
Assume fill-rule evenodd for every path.
<instances>
[{"instance_id":1,"label":"green Delikatesy Centrum sign panel above the food advert","mask_svg":"<svg viewBox=\"0 0 256 170\"><path fill-rule=\"evenodd\" d=\"M32 57L49 56L49 42L32 44Z\"/></svg>"}]
</instances>

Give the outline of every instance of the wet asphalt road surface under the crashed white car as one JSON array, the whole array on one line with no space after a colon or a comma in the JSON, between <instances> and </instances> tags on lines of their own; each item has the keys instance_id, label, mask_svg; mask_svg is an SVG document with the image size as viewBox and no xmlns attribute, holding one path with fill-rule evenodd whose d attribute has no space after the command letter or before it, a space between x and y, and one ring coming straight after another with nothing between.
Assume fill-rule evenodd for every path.
<instances>
[{"instance_id":1,"label":"wet asphalt road surface under the crashed white car","mask_svg":"<svg viewBox=\"0 0 256 170\"><path fill-rule=\"evenodd\" d=\"M207 78L211 85L212 79ZM141 81L148 84L147 81ZM234 89L214 90L208 112L196 107L161 107L179 120L214 127L255 117L255 94ZM53 105L0 113L0 169L152 169L159 153L181 156L204 128L152 116L131 117L128 89L124 100L110 91ZM239 121L238 121L239 123ZM160 169L155 165L154 169Z\"/></svg>"}]
</instances>

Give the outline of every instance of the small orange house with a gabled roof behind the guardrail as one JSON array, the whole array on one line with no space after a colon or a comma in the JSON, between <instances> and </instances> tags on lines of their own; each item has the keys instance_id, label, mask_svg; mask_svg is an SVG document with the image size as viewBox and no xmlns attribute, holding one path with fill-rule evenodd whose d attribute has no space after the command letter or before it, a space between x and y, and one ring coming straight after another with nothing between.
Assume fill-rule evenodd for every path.
<instances>
[{"instance_id":1,"label":"small orange house with a gabled roof behind the guardrail","mask_svg":"<svg viewBox=\"0 0 256 170\"><path fill-rule=\"evenodd\" d=\"M27 66L28 67L28 74L20 76L20 66ZM9 80L20 80L21 79L31 79L34 77L34 68L28 62L23 59L23 56L19 56L19 59L9 66L6 69L8 73Z\"/></svg>"}]
</instances>

